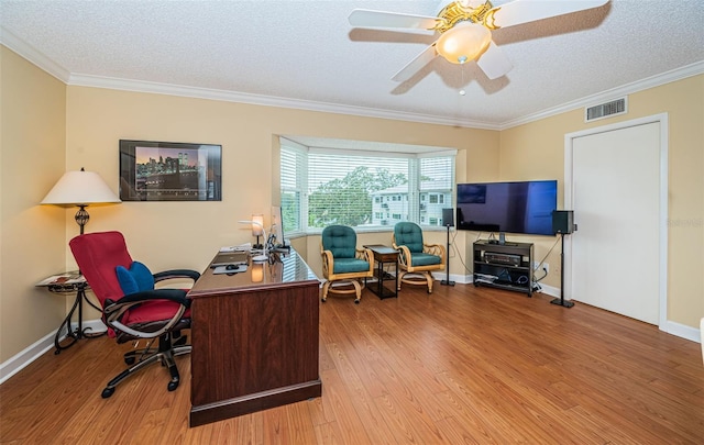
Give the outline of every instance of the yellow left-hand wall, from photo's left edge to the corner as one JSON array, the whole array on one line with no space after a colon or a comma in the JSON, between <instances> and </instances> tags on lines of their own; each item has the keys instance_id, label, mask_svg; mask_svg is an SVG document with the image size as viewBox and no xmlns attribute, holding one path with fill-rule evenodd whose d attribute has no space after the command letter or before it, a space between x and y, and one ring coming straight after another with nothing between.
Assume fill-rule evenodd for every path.
<instances>
[{"instance_id":1,"label":"yellow left-hand wall, from photo's left edge to the corner","mask_svg":"<svg viewBox=\"0 0 704 445\"><path fill-rule=\"evenodd\" d=\"M0 46L0 363L56 330L66 298L34 283L65 267L65 215L37 203L64 174L66 86Z\"/></svg>"}]
</instances>

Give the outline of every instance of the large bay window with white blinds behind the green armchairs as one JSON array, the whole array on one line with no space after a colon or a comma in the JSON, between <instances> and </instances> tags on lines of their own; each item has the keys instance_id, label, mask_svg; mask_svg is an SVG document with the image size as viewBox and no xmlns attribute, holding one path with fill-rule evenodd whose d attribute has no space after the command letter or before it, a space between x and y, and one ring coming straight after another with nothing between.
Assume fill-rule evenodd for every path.
<instances>
[{"instance_id":1,"label":"large bay window with white blinds behind the green armchairs","mask_svg":"<svg viewBox=\"0 0 704 445\"><path fill-rule=\"evenodd\" d=\"M399 221L442 225L442 209L453 205L455 151L404 147L314 148L280 137L286 233L332 224L356 230L391 230Z\"/></svg>"}]
</instances>

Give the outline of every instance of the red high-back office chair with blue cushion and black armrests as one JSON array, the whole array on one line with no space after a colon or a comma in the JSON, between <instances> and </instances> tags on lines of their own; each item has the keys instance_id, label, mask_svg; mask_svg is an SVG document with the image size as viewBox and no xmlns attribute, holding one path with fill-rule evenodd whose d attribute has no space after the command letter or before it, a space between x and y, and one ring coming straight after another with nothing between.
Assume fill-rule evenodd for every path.
<instances>
[{"instance_id":1,"label":"red high-back office chair with blue cushion and black armrests","mask_svg":"<svg viewBox=\"0 0 704 445\"><path fill-rule=\"evenodd\" d=\"M183 289L154 289L154 282L170 278L200 277L195 270L167 270L152 275L133 262L120 232L96 232L79 235L69 243L84 277L102 307L102 321L108 335L118 343L147 338L145 349L124 354L130 366L110 380L102 390L107 399L114 388L133 372L153 363L168 368L169 391L178 388L179 375L174 356L190 353L180 330L190 327L190 300ZM158 338L158 347L151 348ZM136 361L136 364L135 364Z\"/></svg>"}]
</instances>

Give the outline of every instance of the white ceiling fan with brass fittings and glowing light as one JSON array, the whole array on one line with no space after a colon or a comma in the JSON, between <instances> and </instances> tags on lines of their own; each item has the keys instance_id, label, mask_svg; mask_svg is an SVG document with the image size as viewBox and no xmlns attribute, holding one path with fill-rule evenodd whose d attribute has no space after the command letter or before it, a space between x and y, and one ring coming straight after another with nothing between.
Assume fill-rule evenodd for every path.
<instances>
[{"instance_id":1,"label":"white ceiling fan with brass fittings and glowing light","mask_svg":"<svg viewBox=\"0 0 704 445\"><path fill-rule=\"evenodd\" d=\"M440 34L428 48L403 67L393 80L406 81L437 55L453 64L476 64L490 79L508 73L513 65L492 41L492 30L597 8L609 0L514 0L494 8L488 0L458 0L438 16L355 9L350 24L359 27L406 27Z\"/></svg>"}]
</instances>

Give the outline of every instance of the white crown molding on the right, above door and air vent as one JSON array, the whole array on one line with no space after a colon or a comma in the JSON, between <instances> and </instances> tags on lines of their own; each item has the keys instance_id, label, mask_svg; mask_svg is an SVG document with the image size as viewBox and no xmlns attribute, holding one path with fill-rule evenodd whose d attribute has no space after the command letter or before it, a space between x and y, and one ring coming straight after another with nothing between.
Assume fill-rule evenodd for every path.
<instances>
[{"instance_id":1,"label":"white crown molding on the right, above door and air vent","mask_svg":"<svg viewBox=\"0 0 704 445\"><path fill-rule=\"evenodd\" d=\"M670 71L666 71L656 76L647 77L645 79L626 84L620 87L612 88L610 90L602 91L596 94L586 96L582 99L573 100L568 103L563 103L559 107L550 108L539 111L519 119L506 121L498 125L498 130L508 130L514 126L527 124L530 122L539 121L541 119L550 118L557 114L561 114L568 111L573 111L584 107L591 107L595 103L607 102L615 98L619 98L626 94L632 94L638 91L647 90L649 88L659 87L661 85L670 84L676 80L682 80L688 77L698 76L704 74L704 62L696 62L691 65L685 65L681 68L675 68Z\"/></svg>"}]
</instances>

